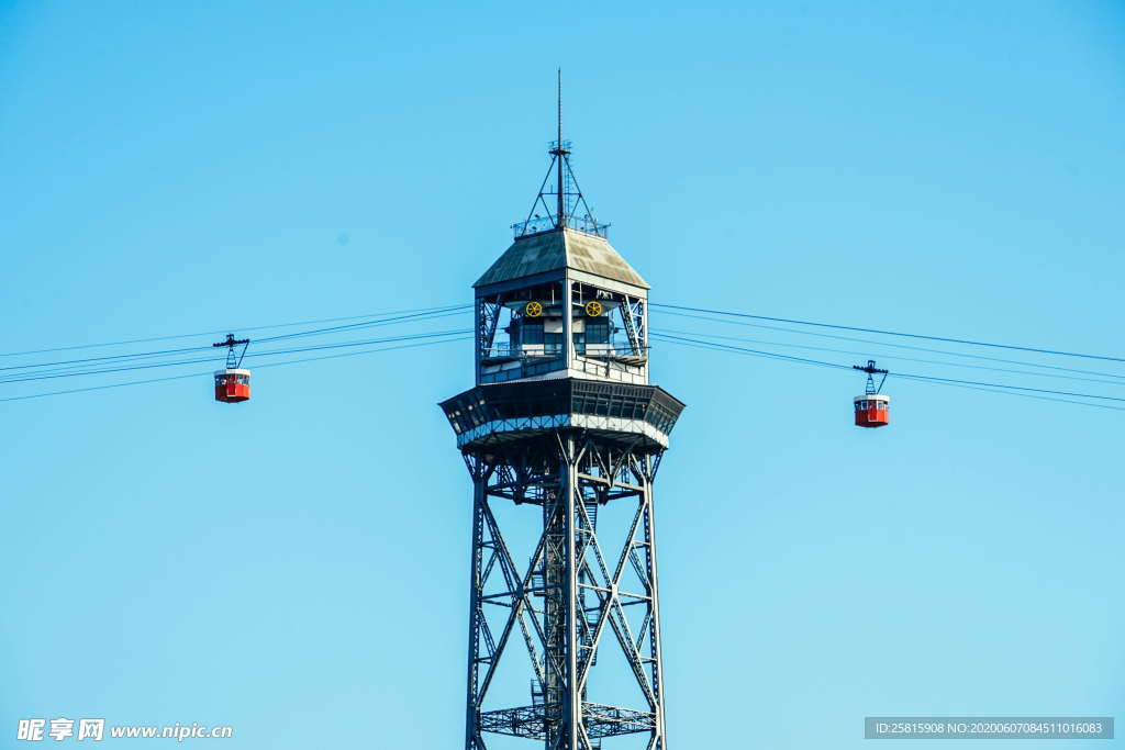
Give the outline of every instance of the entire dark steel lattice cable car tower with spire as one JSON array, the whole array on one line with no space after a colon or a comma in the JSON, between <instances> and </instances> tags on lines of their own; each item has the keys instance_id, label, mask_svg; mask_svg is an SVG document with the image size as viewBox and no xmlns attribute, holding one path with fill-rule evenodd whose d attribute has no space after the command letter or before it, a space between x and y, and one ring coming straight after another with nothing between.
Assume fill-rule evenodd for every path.
<instances>
[{"instance_id":1,"label":"entire dark steel lattice cable car tower with spire","mask_svg":"<svg viewBox=\"0 0 1125 750\"><path fill-rule=\"evenodd\" d=\"M441 404L474 488L465 749L666 750L652 486L684 405L648 381L649 287L578 190L561 107L558 136L474 284L476 386Z\"/></svg>"}]
</instances>

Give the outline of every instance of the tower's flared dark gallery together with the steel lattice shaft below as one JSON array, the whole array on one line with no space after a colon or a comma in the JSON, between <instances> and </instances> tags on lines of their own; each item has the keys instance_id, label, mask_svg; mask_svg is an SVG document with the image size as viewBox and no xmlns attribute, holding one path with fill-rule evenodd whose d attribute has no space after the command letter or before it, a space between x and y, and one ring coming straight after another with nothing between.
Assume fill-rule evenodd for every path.
<instances>
[{"instance_id":1,"label":"tower's flared dark gallery together with the steel lattice shaft below","mask_svg":"<svg viewBox=\"0 0 1125 750\"><path fill-rule=\"evenodd\" d=\"M632 734L666 750L652 485L684 405L657 386L561 378L478 386L441 407L474 482L466 750L488 733L551 750ZM497 503L539 512L526 566ZM610 508L624 523L600 536ZM623 657L606 685L628 684L629 705L597 701L600 648ZM511 677L502 660L520 650L530 696L493 706Z\"/></svg>"}]
</instances>

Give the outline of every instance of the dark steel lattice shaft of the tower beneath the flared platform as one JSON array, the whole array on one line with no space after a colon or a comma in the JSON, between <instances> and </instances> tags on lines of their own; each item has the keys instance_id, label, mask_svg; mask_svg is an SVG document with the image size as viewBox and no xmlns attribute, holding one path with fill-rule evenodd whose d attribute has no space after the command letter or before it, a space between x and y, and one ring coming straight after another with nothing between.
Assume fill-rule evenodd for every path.
<instances>
[{"instance_id":1,"label":"dark steel lattice shaft of the tower beneath the flared platform","mask_svg":"<svg viewBox=\"0 0 1125 750\"><path fill-rule=\"evenodd\" d=\"M567 430L465 458L474 479L466 750L484 750L486 732L548 750L596 750L594 740L647 733L649 750L666 750L652 508L659 449ZM497 499L540 508L542 531L522 572L493 513ZM597 534L597 509L610 501L633 509L620 546ZM636 590L622 587L627 571ZM487 607L506 609L502 627L489 624ZM531 663L532 705L486 710L515 633ZM600 648L620 650L641 705L586 699Z\"/></svg>"}]
</instances>

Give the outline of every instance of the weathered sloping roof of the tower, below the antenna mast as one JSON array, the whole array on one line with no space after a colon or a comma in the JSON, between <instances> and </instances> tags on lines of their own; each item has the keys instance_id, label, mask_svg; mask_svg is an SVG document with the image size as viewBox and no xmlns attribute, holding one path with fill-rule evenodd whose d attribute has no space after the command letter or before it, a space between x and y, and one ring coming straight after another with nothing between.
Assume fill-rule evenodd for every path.
<instances>
[{"instance_id":1,"label":"weathered sloping roof of the tower, below the antenna mast","mask_svg":"<svg viewBox=\"0 0 1125 750\"><path fill-rule=\"evenodd\" d=\"M648 289L648 282L613 250L605 237L560 227L516 237L474 287L487 287L524 277L574 269Z\"/></svg>"}]
</instances>

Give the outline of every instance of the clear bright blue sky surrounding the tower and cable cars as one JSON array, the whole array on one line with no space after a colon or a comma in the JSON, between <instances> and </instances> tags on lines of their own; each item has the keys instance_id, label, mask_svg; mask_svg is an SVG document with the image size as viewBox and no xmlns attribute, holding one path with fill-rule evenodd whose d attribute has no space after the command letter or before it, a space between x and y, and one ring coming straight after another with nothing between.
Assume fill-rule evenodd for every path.
<instances>
[{"instance_id":1,"label":"clear bright blue sky surrounding the tower and cable cars","mask_svg":"<svg viewBox=\"0 0 1125 750\"><path fill-rule=\"evenodd\" d=\"M556 66L577 175L655 300L1125 355L1110 0L4 2L0 351L470 300L546 169ZM861 431L850 373L652 356L688 405L658 484L672 748L1125 716L1125 413L892 377L893 424ZM0 737L459 747L471 495L435 404L471 364L260 369L240 407L206 376L0 403Z\"/></svg>"}]
</instances>

